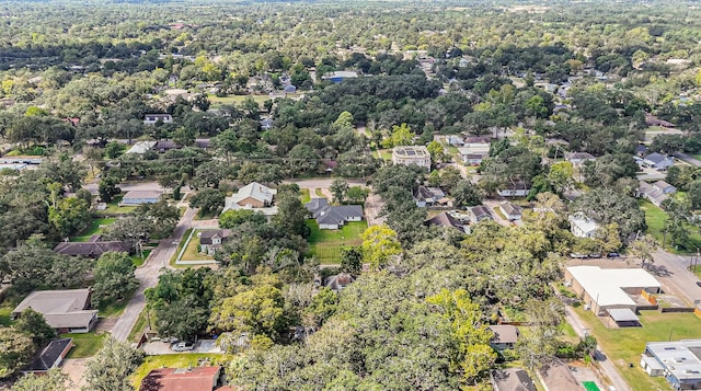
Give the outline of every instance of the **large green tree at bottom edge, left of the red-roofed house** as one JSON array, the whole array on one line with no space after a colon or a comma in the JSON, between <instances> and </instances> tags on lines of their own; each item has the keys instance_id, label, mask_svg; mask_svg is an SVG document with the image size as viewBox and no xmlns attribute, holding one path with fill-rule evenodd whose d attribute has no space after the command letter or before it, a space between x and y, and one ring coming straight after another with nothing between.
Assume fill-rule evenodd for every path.
<instances>
[{"instance_id":1,"label":"large green tree at bottom edge, left of the red-roofed house","mask_svg":"<svg viewBox=\"0 0 701 391\"><path fill-rule=\"evenodd\" d=\"M104 347L87 365L83 390L131 391L131 373L143 359L143 352L113 337L105 340Z\"/></svg>"}]
</instances>

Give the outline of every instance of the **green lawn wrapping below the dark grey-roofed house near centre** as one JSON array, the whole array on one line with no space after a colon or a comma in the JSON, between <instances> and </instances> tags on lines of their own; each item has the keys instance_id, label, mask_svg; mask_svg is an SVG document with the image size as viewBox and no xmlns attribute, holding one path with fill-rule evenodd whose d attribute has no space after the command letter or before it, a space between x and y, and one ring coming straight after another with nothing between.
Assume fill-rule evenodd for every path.
<instances>
[{"instance_id":1,"label":"green lawn wrapping below the dark grey-roofed house near centre","mask_svg":"<svg viewBox=\"0 0 701 391\"><path fill-rule=\"evenodd\" d=\"M347 245L360 245L360 233L368 228L367 221L350 221L340 230L321 230L315 220L307 220L311 229L309 254L317 256L319 263L341 263L341 249Z\"/></svg>"}]
</instances>

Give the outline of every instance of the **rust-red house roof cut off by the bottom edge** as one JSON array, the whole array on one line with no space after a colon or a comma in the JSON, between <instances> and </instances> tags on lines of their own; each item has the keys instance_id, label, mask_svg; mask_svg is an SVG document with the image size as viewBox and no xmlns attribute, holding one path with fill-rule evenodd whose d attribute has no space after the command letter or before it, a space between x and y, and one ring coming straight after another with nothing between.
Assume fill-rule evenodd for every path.
<instances>
[{"instance_id":1,"label":"rust-red house roof cut off by the bottom edge","mask_svg":"<svg viewBox=\"0 0 701 391\"><path fill-rule=\"evenodd\" d=\"M221 367L153 369L141 380L139 391L211 391L220 371Z\"/></svg>"}]
</instances>

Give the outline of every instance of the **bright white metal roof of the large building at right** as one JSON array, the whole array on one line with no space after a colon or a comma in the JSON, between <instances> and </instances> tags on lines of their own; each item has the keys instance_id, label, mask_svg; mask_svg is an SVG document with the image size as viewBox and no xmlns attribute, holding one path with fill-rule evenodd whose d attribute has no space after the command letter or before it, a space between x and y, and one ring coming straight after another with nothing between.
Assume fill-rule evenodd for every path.
<instances>
[{"instance_id":1,"label":"bright white metal roof of the large building at right","mask_svg":"<svg viewBox=\"0 0 701 391\"><path fill-rule=\"evenodd\" d=\"M623 288L660 288L662 284L642 268L567 267L572 277L600 307L636 306Z\"/></svg>"}]
</instances>

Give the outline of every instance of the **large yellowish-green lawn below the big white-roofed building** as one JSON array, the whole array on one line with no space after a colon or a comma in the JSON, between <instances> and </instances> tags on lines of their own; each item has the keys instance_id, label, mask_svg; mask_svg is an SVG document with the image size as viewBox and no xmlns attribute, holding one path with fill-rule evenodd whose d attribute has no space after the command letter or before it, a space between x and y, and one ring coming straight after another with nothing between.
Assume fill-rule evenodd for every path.
<instances>
[{"instance_id":1,"label":"large yellowish-green lawn below the big white-roofed building","mask_svg":"<svg viewBox=\"0 0 701 391\"><path fill-rule=\"evenodd\" d=\"M582 307L574 311L588 324L591 334L632 390L669 390L665 378L652 378L640 367L640 355L646 342L668 341L670 332L674 341L701 337L701 319L693 313L641 311L642 327L607 329L591 311L585 311ZM633 368L628 367L629 363L634 364Z\"/></svg>"}]
</instances>

